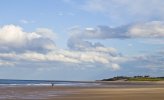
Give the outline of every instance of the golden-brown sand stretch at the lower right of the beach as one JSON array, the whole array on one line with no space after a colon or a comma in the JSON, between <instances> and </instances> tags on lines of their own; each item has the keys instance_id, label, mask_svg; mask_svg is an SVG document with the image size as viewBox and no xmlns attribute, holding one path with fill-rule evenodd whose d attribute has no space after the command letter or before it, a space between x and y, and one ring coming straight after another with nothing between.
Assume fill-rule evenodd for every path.
<instances>
[{"instance_id":1,"label":"golden-brown sand stretch at the lower right of the beach","mask_svg":"<svg viewBox=\"0 0 164 100\"><path fill-rule=\"evenodd\" d=\"M164 100L164 89L86 89L80 90L79 94L58 97L55 100Z\"/></svg>"}]
</instances>

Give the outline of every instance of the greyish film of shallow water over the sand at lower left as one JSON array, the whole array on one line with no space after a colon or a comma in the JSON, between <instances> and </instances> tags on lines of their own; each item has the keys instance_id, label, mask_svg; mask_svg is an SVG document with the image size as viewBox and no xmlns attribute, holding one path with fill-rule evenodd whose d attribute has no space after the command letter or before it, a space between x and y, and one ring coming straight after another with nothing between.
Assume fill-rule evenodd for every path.
<instances>
[{"instance_id":1,"label":"greyish film of shallow water over the sand at lower left","mask_svg":"<svg viewBox=\"0 0 164 100\"><path fill-rule=\"evenodd\" d=\"M39 87L38 87L39 88ZM45 89L44 89L45 88ZM48 87L0 87L0 100L6 99L46 99L72 94L75 91L55 90Z\"/></svg>"}]
</instances>

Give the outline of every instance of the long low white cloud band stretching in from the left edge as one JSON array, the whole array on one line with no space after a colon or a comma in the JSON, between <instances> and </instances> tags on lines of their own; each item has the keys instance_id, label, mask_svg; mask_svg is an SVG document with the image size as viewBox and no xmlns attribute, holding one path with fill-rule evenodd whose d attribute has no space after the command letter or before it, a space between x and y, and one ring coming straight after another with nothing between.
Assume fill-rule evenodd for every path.
<instances>
[{"instance_id":1,"label":"long low white cloud band stretching in from the left edge","mask_svg":"<svg viewBox=\"0 0 164 100\"><path fill-rule=\"evenodd\" d=\"M102 64L100 67L108 67L113 70L117 66L112 65L113 63L122 63L124 57L108 55L106 52L97 51L70 51L64 49L53 49L47 53L39 53L34 51L22 52L22 53L0 53L0 58L4 60L20 62L33 62L33 63L49 63L57 62L65 65L70 63L72 65L79 64L83 65L81 68L85 68L87 65L96 66L97 64ZM119 66L119 65L118 65Z\"/></svg>"}]
</instances>

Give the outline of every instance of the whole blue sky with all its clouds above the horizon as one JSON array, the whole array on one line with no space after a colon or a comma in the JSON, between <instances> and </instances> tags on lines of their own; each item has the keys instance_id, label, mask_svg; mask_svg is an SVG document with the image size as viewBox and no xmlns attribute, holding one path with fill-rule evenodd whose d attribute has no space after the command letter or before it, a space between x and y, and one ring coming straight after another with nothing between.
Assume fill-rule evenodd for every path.
<instances>
[{"instance_id":1,"label":"whole blue sky with all its clouds above the horizon","mask_svg":"<svg viewBox=\"0 0 164 100\"><path fill-rule=\"evenodd\" d=\"M164 76L163 0L0 0L0 79Z\"/></svg>"}]
</instances>

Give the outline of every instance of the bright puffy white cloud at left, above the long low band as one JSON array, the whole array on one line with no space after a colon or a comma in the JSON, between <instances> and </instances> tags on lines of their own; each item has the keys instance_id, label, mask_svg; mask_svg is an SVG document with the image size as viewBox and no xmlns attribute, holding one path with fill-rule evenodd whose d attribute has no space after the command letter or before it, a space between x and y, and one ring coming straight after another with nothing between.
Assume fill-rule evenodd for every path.
<instances>
[{"instance_id":1,"label":"bright puffy white cloud at left, above the long low band","mask_svg":"<svg viewBox=\"0 0 164 100\"><path fill-rule=\"evenodd\" d=\"M46 49L45 46L54 45L54 38L55 33L47 28L39 28L36 32L24 32L16 25L0 27L0 49L4 51Z\"/></svg>"}]
</instances>

